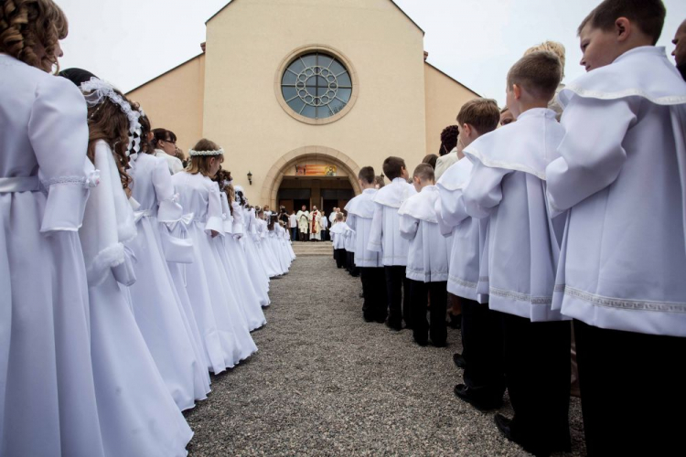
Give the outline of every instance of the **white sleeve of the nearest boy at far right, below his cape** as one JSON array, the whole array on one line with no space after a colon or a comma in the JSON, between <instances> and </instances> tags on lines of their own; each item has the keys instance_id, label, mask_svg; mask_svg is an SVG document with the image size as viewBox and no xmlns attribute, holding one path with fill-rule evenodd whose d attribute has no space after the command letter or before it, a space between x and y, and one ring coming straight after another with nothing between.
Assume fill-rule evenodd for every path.
<instances>
[{"instance_id":1,"label":"white sleeve of the nearest boy at far right, below his cape","mask_svg":"<svg viewBox=\"0 0 686 457\"><path fill-rule=\"evenodd\" d=\"M548 202L555 217L612 184L627 160L622 147L640 100L574 97L563 113L562 157L546 168Z\"/></svg>"}]
</instances>

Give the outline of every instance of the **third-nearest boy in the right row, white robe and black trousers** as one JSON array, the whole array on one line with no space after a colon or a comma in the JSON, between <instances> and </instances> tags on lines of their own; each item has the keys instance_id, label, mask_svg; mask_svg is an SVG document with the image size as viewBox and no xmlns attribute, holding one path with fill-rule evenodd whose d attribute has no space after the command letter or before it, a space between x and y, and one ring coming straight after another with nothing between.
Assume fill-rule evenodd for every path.
<instances>
[{"instance_id":1,"label":"third-nearest boy in the right row, white robe and black trousers","mask_svg":"<svg viewBox=\"0 0 686 457\"><path fill-rule=\"evenodd\" d=\"M477 293L480 245L486 237L488 219L473 219L466 214L462 191L472 172L472 163L461 151L481 135L496 130L498 121L496 101L475 99L462 106L457 114L460 160L447 169L436 185L440 196L435 205L436 217L447 228L444 235L452 236L447 289L460 297L462 303L463 353L455 354L453 360L458 367L465 368L464 384L457 384L454 391L459 399L480 410L502 405L502 330L498 312L489 310L485 303L488 295Z\"/></svg>"}]
</instances>

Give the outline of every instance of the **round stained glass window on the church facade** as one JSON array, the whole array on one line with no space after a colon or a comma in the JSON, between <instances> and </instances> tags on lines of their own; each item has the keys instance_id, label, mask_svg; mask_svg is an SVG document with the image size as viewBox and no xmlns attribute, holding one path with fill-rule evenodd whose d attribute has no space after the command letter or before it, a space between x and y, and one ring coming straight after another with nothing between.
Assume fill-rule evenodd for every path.
<instances>
[{"instance_id":1,"label":"round stained glass window on the church facade","mask_svg":"<svg viewBox=\"0 0 686 457\"><path fill-rule=\"evenodd\" d=\"M288 106L301 116L325 119L348 104L352 80L337 58L313 52L295 58L286 67L281 93Z\"/></svg>"}]
</instances>

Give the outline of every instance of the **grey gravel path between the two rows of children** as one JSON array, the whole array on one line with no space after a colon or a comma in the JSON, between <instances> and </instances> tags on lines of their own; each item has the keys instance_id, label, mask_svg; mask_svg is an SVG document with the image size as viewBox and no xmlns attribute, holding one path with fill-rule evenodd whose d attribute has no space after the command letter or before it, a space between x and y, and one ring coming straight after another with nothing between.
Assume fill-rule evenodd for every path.
<instances>
[{"instance_id":1,"label":"grey gravel path between the two rows of children","mask_svg":"<svg viewBox=\"0 0 686 457\"><path fill-rule=\"evenodd\" d=\"M414 345L408 330L365 323L360 292L330 257L300 257L273 280L268 324L252 334L259 352L212 377L209 399L186 414L189 454L526 455L493 413L455 398L458 331L447 348ZM584 455L578 399L571 420L573 452L561 455Z\"/></svg>"}]
</instances>

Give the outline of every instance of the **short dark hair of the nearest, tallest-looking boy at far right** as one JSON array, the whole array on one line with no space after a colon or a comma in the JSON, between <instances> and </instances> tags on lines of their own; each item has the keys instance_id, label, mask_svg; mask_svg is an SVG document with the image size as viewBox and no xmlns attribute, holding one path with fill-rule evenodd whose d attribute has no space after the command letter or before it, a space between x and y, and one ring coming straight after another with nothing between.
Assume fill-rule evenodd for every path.
<instances>
[{"instance_id":1,"label":"short dark hair of the nearest, tallest-looking boy at far right","mask_svg":"<svg viewBox=\"0 0 686 457\"><path fill-rule=\"evenodd\" d=\"M584 18L576 33L581 35L588 24L593 28L609 31L615 28L615 21L619 17L626 17L651 37L655 46L662 35L665 16L667 10L662 0L605 0Z\"/></svg>"}]
</instances>

